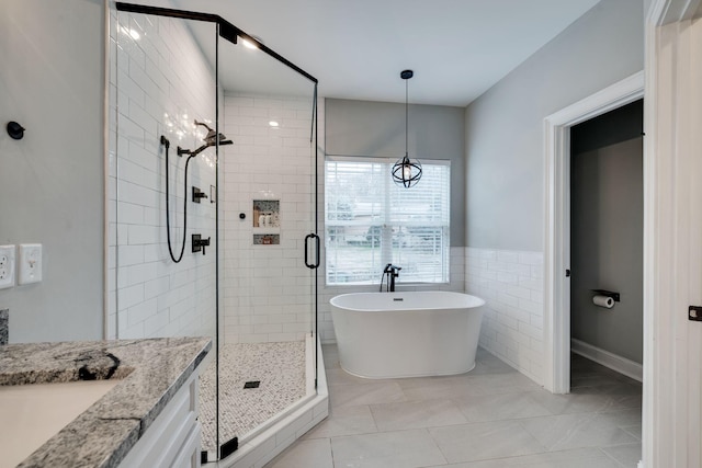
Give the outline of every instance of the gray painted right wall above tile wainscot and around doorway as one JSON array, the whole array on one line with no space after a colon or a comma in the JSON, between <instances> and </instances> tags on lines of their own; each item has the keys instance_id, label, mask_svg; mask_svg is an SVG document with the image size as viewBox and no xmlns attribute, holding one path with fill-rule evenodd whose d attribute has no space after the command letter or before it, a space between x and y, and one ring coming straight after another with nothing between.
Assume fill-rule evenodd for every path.
<instances>
[{"instance_id":1,"label":"gray painted right wall above tile wainscot and around doorway","mask_svg":"<svg viewBox=\"0 0 702 468\"><path fill-rule=\"evenodd\" d=\"M466 246L543 250L544 117L644 68L643 0L602 0L466 110Z\"/></svg>"}]
</instances>

